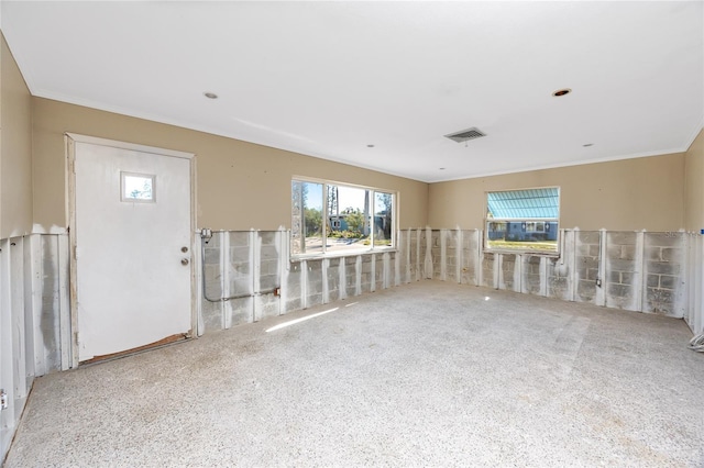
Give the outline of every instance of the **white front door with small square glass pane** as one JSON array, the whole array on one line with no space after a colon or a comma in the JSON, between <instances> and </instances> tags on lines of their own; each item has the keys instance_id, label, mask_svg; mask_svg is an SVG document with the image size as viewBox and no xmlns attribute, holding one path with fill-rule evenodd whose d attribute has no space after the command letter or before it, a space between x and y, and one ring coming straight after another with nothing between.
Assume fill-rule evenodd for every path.
<instances>
[{"instance_id":1,"label":"white front door with small square glass pane","mask_svg":"<svg viewBox=\"0 0 704 468\"><path fill-rule=\"evenodd\" d=\"M74 145L78 360L190 333L190 159Z\"/></svg>"}]
</instances>

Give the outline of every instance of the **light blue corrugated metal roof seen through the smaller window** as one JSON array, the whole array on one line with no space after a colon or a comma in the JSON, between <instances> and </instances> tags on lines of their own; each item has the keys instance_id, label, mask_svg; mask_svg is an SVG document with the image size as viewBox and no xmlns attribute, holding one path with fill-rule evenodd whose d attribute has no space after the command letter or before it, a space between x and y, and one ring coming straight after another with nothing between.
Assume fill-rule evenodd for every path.
<instances>
[{"instance_id":1,"label":"light blue corrugated metal roof seen through the smaller window","mask_svg":"<svg viewBox=\"0 0 704 468\"><path fill-rule=\"evenodd\" d=\"M488 192L487 204L490 218L557 219L560 215L560 190L552 187Z\"/></svg>"}]
</instances>

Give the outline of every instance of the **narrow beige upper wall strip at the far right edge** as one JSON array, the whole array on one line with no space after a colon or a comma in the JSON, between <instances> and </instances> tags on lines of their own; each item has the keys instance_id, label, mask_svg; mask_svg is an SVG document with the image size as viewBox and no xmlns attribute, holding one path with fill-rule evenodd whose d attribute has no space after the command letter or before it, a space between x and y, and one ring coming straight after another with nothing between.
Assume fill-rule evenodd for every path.
<instances>
[{"instance_id":1,"label":"narrow beige upper wall strip at the far right edge","mask_svg":"<svg viewBox=\"0 0 704 468\"><path fill-rule=\"evenodd\" d=\"M684 155L684 225L688 231L704 229L704 130Z\"/></svg>"}]
</instances>

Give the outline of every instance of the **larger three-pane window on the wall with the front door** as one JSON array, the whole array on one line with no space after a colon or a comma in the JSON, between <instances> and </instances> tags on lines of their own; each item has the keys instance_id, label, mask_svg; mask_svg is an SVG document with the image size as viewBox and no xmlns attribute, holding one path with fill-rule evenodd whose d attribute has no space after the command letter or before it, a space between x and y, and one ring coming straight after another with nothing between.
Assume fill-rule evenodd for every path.
<instances>
[{"instance_id":1,"label":"larger three-pane window on the wall with the front door","mask_svg":"<svg viewBox=\"0 0 704 468\"><path fill-rule=\"evenodd\" d=\"M337 182L292 181L292 256L394 247L395 193Z\"/></svg>"}]
</instances>

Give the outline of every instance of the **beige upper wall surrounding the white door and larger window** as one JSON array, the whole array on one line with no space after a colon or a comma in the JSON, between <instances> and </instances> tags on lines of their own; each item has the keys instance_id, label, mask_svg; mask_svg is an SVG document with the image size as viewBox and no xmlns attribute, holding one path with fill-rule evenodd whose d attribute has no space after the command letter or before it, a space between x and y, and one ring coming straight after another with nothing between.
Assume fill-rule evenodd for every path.
<instances>
[{"instance_id":1,"label":"beige upper wall surrounding the white door and larger window","mask_svg":"<svg viewBox=\"0 0 704 468\"><path fill-rule=\"evenodd\" d=\"M354 166L141 119L33 98L34 222L65 227L64 133L195 153L198 227L290 227L292 176L400 192L402 227L427 224L428 185Z\"/></svg>"}]
</instances>

